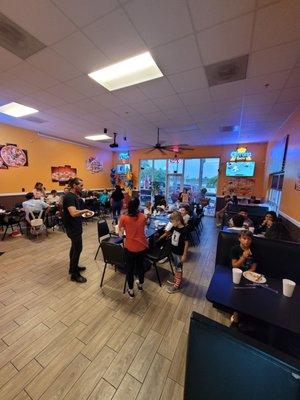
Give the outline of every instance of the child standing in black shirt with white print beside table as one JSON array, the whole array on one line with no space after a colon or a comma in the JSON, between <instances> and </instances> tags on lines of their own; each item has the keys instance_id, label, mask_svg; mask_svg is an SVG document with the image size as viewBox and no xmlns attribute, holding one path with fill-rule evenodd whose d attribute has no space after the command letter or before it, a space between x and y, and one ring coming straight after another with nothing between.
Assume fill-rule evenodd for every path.
<instances>
[{"instance_id":1,"label":"child standing in black shirt with white print beside table","mask_svg":"<svg viewBox=\"0 0 300 400\"><path fill-rule=\"evenodd\" d=\"M173 225L170 234L175 277L172 286L167 289L167 292L176 293L179 292L181 288L183 263L187 259L189 242L187 239L187 228L184 225L181 213L178 211L173 212L170 221Z\"/></svg>"}]
</instances>

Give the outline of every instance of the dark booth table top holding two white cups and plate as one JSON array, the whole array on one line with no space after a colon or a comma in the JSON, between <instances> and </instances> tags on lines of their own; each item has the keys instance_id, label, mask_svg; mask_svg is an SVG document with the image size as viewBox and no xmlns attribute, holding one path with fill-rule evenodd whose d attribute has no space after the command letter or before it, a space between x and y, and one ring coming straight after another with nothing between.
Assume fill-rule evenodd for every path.
<instances>
[{"instance_id":1,"label":"dark booth table top holding two white cups and plate","mask_svg":"<svg viewBox=\"0 0 300 400\"><path fill-rule=\"evenodd\" d=\"M235 285L232 283L231 268L217 265L206 298L212 303L300 335L299 285L296 286L292 297L285 297L282 294L282 281L267 276L266 278L268 286L278 293L259 286L249 290L235 289L249 287L245 285L251 282L242 277L241 283Z\"/></svg>"}]
</instances>

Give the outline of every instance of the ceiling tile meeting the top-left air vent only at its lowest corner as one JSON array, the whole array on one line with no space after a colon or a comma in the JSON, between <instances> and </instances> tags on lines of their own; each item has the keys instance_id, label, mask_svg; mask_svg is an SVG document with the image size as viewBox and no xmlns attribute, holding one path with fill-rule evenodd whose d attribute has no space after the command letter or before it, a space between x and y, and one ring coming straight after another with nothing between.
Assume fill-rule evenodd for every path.
<instances>
[{"instance_id":1,"label":"ceiling tile meeting the top-left air vent only at its lowest corner","mask_svg":"<svg viewBox=\"0 0 300 400\"><path fill-rule=\"evenodd\" d=\"M38 86L41 89L46 89L58 83L56 79L34 68L26 61L23 61L17 66L11 68L10 72L18 78L23 79L25 82L28 82L34 86Z\"/></svg>"}]
</instances>

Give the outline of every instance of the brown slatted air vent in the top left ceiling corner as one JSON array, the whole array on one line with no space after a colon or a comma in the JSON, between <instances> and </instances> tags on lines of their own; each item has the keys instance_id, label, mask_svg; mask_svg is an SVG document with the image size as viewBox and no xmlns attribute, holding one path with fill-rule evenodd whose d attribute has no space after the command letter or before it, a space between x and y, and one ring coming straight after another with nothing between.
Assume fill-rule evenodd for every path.
<instances>
[{"instance_id":1,"label":"brown slatted air vent in the top left ceiling corner","mask_svg":"<svg viewBox=\"0 0 300 400\"><path fill-rule=\"evenodd\" d=\"M46 46L0 13L0 46L26 60Z\"/></svg>"}]
</instances>

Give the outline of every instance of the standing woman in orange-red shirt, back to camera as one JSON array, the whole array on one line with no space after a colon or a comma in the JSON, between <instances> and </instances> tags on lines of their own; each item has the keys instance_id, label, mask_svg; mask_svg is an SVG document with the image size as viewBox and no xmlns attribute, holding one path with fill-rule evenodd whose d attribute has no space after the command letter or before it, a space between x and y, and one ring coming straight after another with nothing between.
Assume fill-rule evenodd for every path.
<instances>
[{"instance_id":1,"label":"standing woman in orange-red shirt, back to camera","mask_svg":"<svg viewBox=\"0 0 300 400\"><path fill-rule=\"evenodd\" d=\"M128 282L128 294L134 297L133 281L134 274L138 275L136 281L138 290L143 290L144 283L144 257L148 248L148 242L145 235L147 218L139 211L140 201L138 198L129 200L127 215L121 215L119 220L119 233L124 235L125 239L125 258L126 275Z\"/></svg>"}]
</instances>

